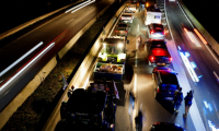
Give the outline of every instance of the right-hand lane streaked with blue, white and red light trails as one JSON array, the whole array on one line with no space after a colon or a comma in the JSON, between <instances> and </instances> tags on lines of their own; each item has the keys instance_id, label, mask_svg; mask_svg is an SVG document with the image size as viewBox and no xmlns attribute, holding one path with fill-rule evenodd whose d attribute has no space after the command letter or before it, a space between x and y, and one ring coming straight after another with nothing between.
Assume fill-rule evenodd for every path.
<instances>
[{"instance_id":1,"label":"right-hand lane streaked with blue, white and red light trails","mask_svg":"<svg viewBox=\"0 0 219 131\"><path fill-rule=\"evenodd\" d=\"M171 8L168 8L171 9ZM169 12L171 12L170 10ZM181 12L181 10L178 10ZM177 14L180 14L180 12ZM184 15L178 15L182 19L185 19ZM176 17L174 15L171 15L171 21L173 17ZM186 20L186 19L185 19ZM180 23L177 21L176 23ZM175 23L174 23L175 24ZM186 26L188 27L189 23L186 23ZM175 24L177 26L177 24ZM192 87L195 90L195 98L197 99L197 105L201 115L201 118L208 127L208 130L212 128L209 124L219 124L219 116L218 116L218 81L217 81L217 73L218 72L218 63L212 58L212 56L209 53L209 51L206 49L205 45L199 40L199 38L195 35L195 33L192 31L192 26L188 27L188 32L192 33L195 37L193 39L195 43L192 43L191 38L182 32L181 27L177 28L177 32L182 34L184 39L184 45L186 47L186 50L191 53L189 59L195 61L197 68L196 71L200 78L200 81L198 83L194 83L193 81L189 81ZM174 34L175 35L175 34ZM174 36L175 37L175 36ZM177 44L177 43L176 43ZM216 73L216 74L215 74ZM189 76L188 76L189 78ZM206 106L211 105L211 106ZM206 110L208 114L206 114ZM215 114L215 116L214 116ZM211 121L211 122L209 122Z\"/></svg>"}]
</instances>

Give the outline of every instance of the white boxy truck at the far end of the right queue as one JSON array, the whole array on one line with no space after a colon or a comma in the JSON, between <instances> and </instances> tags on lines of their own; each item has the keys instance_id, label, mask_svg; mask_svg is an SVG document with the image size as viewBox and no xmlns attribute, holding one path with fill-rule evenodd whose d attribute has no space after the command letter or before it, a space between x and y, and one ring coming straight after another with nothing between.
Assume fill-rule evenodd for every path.
<instances>
[{"instance_id":1,"label":"white boxy truck at the far end of the right queue","mask_svg":"<svg viewBox=\"0 0 219 131\"><path fill-rule=\"evenodd\" d=\"M161 24L161 15L162 15L162 13L155 4L146 8L145 16L143 16L145 24L146 25L149 25L151 23Z\"/></svg>"}]
</instances>

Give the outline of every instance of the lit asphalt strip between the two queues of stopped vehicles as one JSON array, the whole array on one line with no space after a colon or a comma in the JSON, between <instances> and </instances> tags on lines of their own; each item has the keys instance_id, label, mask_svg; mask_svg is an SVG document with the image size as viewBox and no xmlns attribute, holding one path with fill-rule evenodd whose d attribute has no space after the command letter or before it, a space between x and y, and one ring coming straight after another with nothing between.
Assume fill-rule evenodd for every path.
<instances>
[{"instance_id":1,"label":"lit asphalt strip between the two queues of stopped vehicles","mask_svg":"<svg viewBox=\"0 0 219 131\"><path fill-rule=\"evenodd\" d=\"M143 13L143 12L141 12ZM140 15L136 13L136 15ZM131 27L137 27L138 22L141 22L142 17L134 20L134 24L130 24ZM140 23L139 23L140 24ZM146 25L140 27L146 28ZM137 32L137 28L132 29L131 34L138 34L142 36L143 41L148 39L148 34L146 31ZM137 106L135 110L140 108L142 104L142 112L145 117L143 121L143 130L149 130L150 126L158 121L170 121L174 123L178 123L188 131L194 130L194 126L191 117L184 122L183 112L184 106L180 109L177 116L171 114L170 107L165 106L165 103L159 103L154 99L154 90L153 90L153 81L152 81L152 70L154 67L150 67L147 64L147 50L142 47L139 52L136 51L136 39L138 35L129 35L129 45L127 45L127 52L129 58L127 59L128 64L130 64L134 69L134 74L131 82L126 84L126 88L128 91L134 91L136 94ZM173 69L173 66L169 66ZM136 82L135 82L136 81Z\"/></svg>"}]
</instances>

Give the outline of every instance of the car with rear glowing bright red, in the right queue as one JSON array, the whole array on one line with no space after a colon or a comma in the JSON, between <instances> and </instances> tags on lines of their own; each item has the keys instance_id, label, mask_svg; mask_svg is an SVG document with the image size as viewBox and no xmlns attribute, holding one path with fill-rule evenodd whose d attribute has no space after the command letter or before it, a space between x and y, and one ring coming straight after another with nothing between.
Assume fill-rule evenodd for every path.
<instances>
[{"instance_id":1,"label":"car with rear glowing bright red, in the right queue","mask_svg":"<svg viewBox=\"0 0 219 131\"><path fill-rule=\"evenodd\" d=\"M173 60L163 40L148 41L148 52L149 66L166 66Z\"/></svg>"}]
</instances>

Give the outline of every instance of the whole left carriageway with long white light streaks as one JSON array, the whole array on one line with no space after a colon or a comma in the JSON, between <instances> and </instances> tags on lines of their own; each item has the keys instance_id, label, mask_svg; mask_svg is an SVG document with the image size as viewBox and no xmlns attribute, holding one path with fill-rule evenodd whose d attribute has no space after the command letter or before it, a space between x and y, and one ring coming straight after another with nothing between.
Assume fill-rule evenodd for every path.
<instances>
[{"instance_id":1,"label":"whole left carriageway with long white light streaks","mask_svg":"<svg viewBox=\"0 0 219 131\"><path fill-rule=\"evenodd\" d=\"M104 8L111 4L114 0L95 0L84 8L76 12L61 12L58 15L47 20L45 23L39 23L37 27L32 28L26 34L13 39L11 43L0 48L0 71L2 72L15 60L31 50L38 43L43 41L36 50L30 53L25 59L19 62L15 67L0 76L0 83L4 83L25 63L35 57L42 49L46 48L51 43L55 46L50 48L43 57L41 57L34 66L26 69L16 81L11 83L0 97L0 110L13 98L34 76L38 71L87 24L95 17ZM77 9L74 9L77 10ZM73 10L72 10L73 11ZM13 91L13 92L10 92Z\"/></svg>"}]
</instances>

